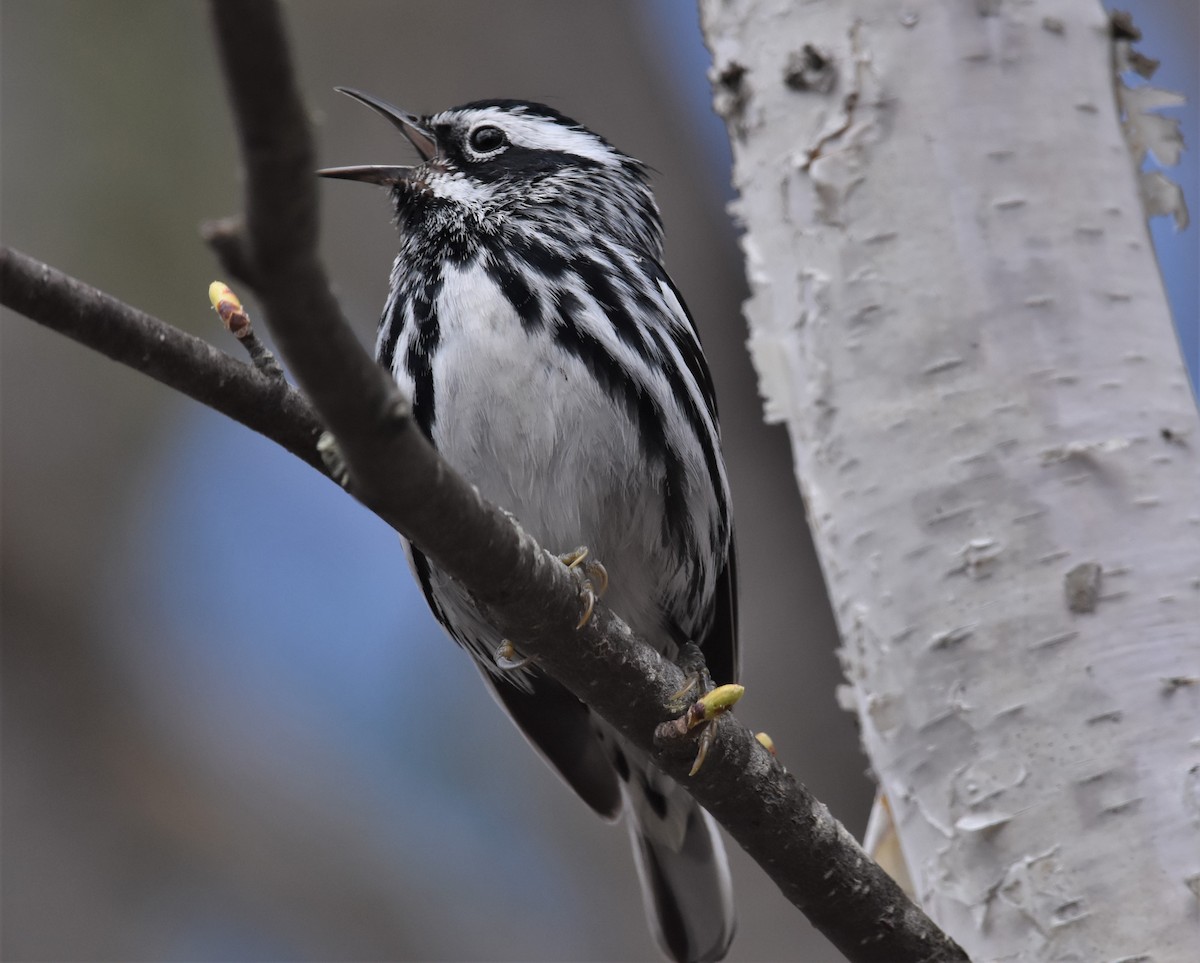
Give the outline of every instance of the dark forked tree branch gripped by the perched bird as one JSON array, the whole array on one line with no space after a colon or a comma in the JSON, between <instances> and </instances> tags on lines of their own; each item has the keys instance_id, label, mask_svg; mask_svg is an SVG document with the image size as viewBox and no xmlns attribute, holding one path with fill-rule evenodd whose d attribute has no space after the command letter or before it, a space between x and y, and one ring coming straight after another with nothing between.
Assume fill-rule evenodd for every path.
<instances>
[{"instance_id":1,"label":"dark forked tree branch gripped by the perched bird","mask_svg":"<svg viewBox=\"0 0 1200 963\"><path fill-rule=\"evenodd\" d=\"M278 10L268 0L214 0L212 10L247 168L246 234L230 250L241 253L242 276L256 281L276 345L338 441L352 494L469 587L523 654L652 753L850 959L965 961L739 722L726 716L714 723L719 736L695 777L688 774L694 747L686 741L655 744L655 728L673 714L667 705L683 682L680 670L604 605L577 630L580 600L571 574L510 516L480 498L416 429L407 400L342 318L317 259L312 148ZM37 313L31 317L46 323L56 309L44 305L60 304L48 292L78 282L36 267L31 275L24 263L29 259L22 258L4 252L0 259L2 299L17 310L32 304ZM14 264L24 270L13 270ZM40 287L38 297L22 289L31 285ZM168 335L172 329L154 318L112 299L103 304L107 307L96 310L112 313L115 305L118 315L137 318L119 337L139 342L142 353L154 354L158 345L168 345L164 351L172 358L184 346L194 352L200 360L192 373L203 385L191 383L179 359L164 377L160 372L168 366L139 363L138 349L94 346L244 424L251 424L244 408L269 407L263 394L268 389L280 393L272 399L294 395L204 346L222 359L214 363L186 335ZM84 304L73 310L91 309ZM52 327L70 334L80 324ZM228 396L232 370L252 379L253 390ZM280 408L281 401L271 405ZM289 450L304 450L301 456L313 463L316 419L307 406L288 411L299 425L295 432L274 420L252 426L281 443L302 438Z\"/></svg>"}]
</instances>

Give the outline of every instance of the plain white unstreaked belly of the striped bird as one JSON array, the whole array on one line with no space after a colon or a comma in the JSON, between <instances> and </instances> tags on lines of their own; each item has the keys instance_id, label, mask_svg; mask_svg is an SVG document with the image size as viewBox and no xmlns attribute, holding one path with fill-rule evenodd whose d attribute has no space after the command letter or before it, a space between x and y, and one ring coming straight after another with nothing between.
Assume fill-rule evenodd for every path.
<instances>
[{"instance_id":1,"label":"plain white unstreaked belly of the striped bird","mask_svg":"<svg viewBox=\"0 0 1200 963\"><path fill-rule=\"evenodd\" d=\"M643 454L625 405L546 333L528 334L482 276L444 285L438 322L438 450L544 548L587 545L608 570L605 600L666 647L659 602L691 566L666 549L664 471ZM499 644L452 582L433 582L452 622L485 635L488 651Z\"/></svg>"}]
</instances>

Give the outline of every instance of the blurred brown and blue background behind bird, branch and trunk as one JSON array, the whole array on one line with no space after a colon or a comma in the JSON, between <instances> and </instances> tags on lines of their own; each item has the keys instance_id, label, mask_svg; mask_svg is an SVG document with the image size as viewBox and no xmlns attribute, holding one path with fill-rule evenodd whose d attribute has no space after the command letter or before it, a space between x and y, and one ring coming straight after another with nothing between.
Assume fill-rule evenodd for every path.
<instances>
[{"instance_id":1,"label":"blurred brown and blue background behind bird, branch and trunk","mask_svg":"<svg viewBox=\"0 0 1200 963\"><path fill-rule=\"evenodd\" d=\"M1140 0L1186 90L1194 0ZM871 798L785 432L762 424L728 146L690 0L287 5L323 165L409 158L332 91L416 112L541 100L650 163L713 366L742 563L739 714L853 832ZM206 8L4 0L0 233L236 353L198 225L239 208ZM1189 191L1195 154L1171 175ZM395 234L322 186L365 342ZM1196 228L1156 240L1196 378ZM1176 283L1183 279L1183 283ZM655 958L623 827L526 747L440 633L396 537L270 443L5 312L0 955L10 961ZM731 958L836 955L731 845Z\"/></svg>"}]
</instances>

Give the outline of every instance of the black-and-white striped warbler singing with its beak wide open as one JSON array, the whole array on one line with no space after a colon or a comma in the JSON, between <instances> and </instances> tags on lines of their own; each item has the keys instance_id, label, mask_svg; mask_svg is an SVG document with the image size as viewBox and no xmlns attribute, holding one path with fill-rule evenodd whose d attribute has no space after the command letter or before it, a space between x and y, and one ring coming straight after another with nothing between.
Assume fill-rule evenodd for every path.
<instances>
[{"instance_id":1,"label":"black-and-white striped warbler singing with its beak wide open","mask_svg":"<svg viewBox=\"0 0 1200 963\"><path fill-rule=\"evenodd\" d=\"M607 602L674 657L737 671L730 500L708 366L662 268L646 168L557 110L478 101L391 121L415 167L322 173L390 190L401 247L376 355L432 443L544 546L590 549ZM709 817L503 640L416 550L430 608L499 704L600 815L623 801L647 915L678 961L733 935L728 866ZM516 640L520 648L520 640ZM498 664L499 663L499 664Z\"/></svg>"}]
</instances>

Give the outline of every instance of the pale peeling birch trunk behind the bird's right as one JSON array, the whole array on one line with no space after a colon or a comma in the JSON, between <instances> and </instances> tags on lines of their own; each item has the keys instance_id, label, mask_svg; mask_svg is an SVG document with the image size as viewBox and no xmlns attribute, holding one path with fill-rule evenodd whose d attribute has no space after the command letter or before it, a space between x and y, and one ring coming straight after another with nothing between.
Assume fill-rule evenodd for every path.
<instances>
[{"instance_id":1,"label":"pale peeling birch trunk behind the bird's right","mask_svg":"<svg viewBox=\"0 0 1200 963\"><path fill-rule=\"evenodd\" d=\"M977 959L1195 959L1200 424L1104 11L701 7L751 353L919 898Z\"/></svg>"}]
</instances>

